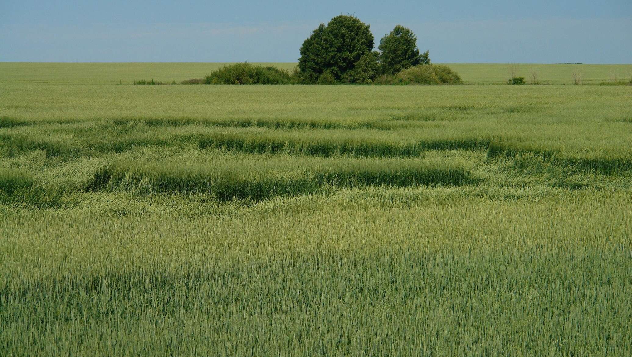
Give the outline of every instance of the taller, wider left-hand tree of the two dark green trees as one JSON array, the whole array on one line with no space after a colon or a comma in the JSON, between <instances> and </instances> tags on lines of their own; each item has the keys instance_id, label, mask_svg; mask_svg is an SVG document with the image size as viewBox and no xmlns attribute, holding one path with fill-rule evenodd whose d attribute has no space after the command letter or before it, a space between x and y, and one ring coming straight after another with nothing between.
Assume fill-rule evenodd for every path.
<instances>
[{"instance_id":1,"label":"taller, wider left-hand tree of the two dark green trees","mask_svg":"<svg viewBox=\"0 0 632 357\"><path fill-rule=\"evenodd\" d=\"M374 57L373 34L369 25L355 16L339 15L327 26L320 24L301 46L299 74L306 83L315 83L323 73L336 81L355 81L356 64ZM365 71L363 71L365 73Z\"/></svg>"}]
</instances>

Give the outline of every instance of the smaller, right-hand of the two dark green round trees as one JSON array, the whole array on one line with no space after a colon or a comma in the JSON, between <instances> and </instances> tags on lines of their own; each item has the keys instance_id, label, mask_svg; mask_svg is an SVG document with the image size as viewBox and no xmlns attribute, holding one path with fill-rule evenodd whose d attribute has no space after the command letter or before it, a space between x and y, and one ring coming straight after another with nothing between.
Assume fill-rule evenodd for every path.
<instances>
[{"instance_id":1,"label":"smaller, right-hand of the two dark green round trees","mask_svg":"<svg viewBox=\"0 0 632 357\"><path fill-rule=\"evenodd\" d=\"M379 60L383 74L396 74L418 64L430 63L428 51L419 53L415 33L401 25L395 26L391 33L382 37L378 49L381 52Z\"/></svg>"}]
</instances>

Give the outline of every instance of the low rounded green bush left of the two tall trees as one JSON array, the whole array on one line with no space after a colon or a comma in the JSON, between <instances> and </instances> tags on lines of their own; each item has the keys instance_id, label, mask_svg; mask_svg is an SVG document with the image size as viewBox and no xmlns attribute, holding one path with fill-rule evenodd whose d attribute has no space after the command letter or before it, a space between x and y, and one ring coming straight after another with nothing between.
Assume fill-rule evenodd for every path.
<instances>
[{"instance_id":1,"label":"low rounded green bush left of the two tall trees","mask_svg":"<svg viewBox=\"0 0 632 357\"><path fill-rule=\"evenodd\" d=\"M247 62L221 67L204 78L207 85L287 85L290 82L288 71Z\"/></svg>"}]
</instances>

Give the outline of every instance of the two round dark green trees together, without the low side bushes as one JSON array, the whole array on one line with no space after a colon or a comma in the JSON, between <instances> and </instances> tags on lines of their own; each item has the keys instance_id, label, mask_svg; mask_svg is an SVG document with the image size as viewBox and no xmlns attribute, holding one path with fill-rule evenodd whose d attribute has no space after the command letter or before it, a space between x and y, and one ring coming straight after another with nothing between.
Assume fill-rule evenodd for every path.
<instances>
[{"instance_id":1,"label":"two round dark green trees together, without the low side bushes","mask_svg":"<svg viewBox=\"0 0 632 357\"><path fill-rule=\"evenodd\" d=\"M428 51L420 53L409 29L395 26L374 51L370 26L355 16L339 15L320 24L301 46L296 76L301 83L372 83L404 69L430 64ZM384 81L384 78L382 78Z\"/></svg>"}]
</instances>

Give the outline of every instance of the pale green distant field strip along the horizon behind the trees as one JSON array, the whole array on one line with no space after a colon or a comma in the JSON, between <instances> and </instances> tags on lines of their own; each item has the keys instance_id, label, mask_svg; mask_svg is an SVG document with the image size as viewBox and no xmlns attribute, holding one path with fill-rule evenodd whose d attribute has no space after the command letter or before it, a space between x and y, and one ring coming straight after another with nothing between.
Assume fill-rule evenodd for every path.
<instances>
[{"instance_id":1,"label":"pale green distant field strip along the horizon behind the trees","mask_svg":"<svg viewBox=\"0 0 632 357\"><path fill-rule=\"evenodd\" d=\"M295 63L258 63L293 69ZM15 63L0 62L0 83L37 84L131 84L139 79L171 83L202 78L226 63ZM509 64L447 64L466 83L501 84L509 78ZM531 81L535 72L542 84L572 84L573 72L580 73L584 84L617 79L632 79L632 64L516 64L518 76Z\"/></svg>"}]
</instances>

